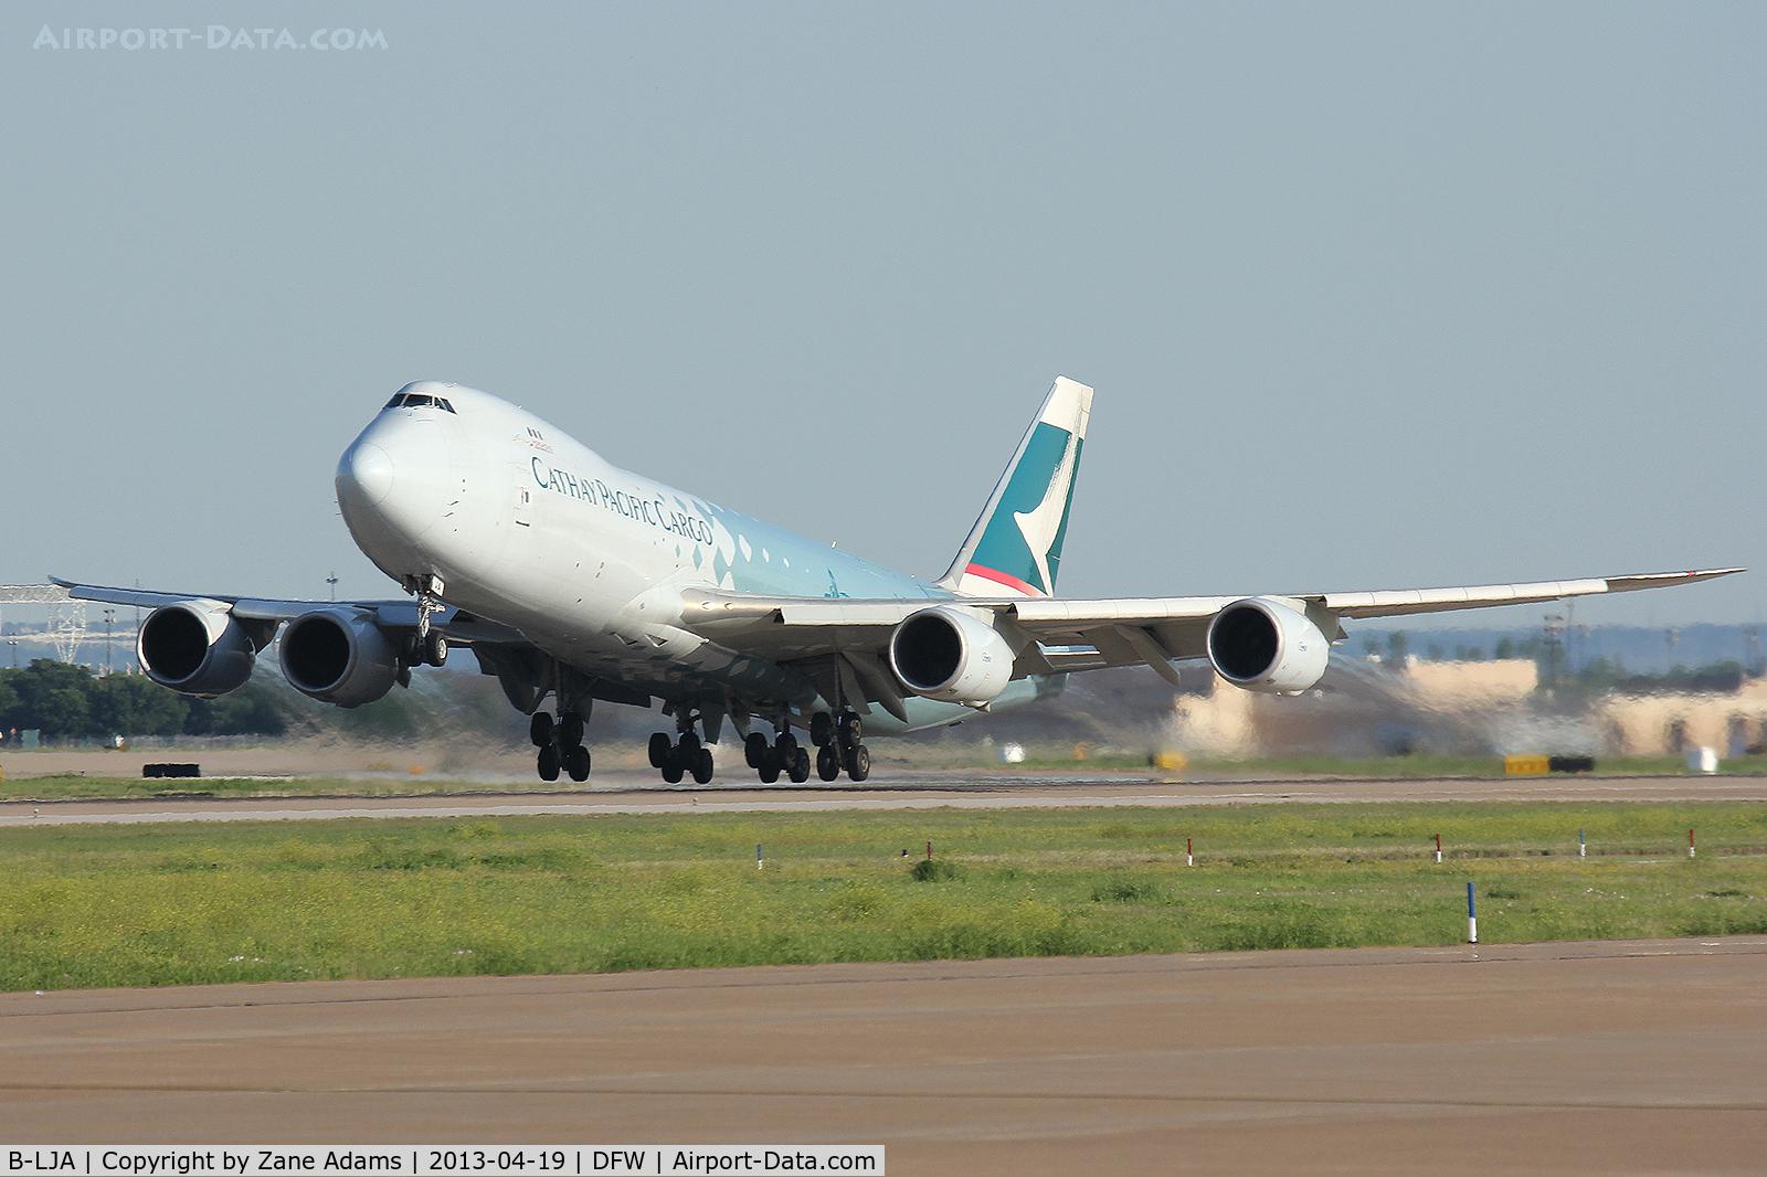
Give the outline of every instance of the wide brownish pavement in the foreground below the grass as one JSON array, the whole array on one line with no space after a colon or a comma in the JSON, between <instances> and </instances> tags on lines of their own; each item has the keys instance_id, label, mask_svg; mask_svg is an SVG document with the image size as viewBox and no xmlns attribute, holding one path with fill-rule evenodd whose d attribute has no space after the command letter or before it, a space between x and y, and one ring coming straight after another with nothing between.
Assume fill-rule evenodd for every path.
<instances>
[{"instance_id":1,"label":"wide brownish pavement in the foreground below the grass","mask_svg":"<svg viewBox=\"0 0 1767 1177\"><path fill-rule=\"evenodd\" d=\"M1758 1173L1767 937L0 997L0 1135Z\"/></svg>"}]
</instances>

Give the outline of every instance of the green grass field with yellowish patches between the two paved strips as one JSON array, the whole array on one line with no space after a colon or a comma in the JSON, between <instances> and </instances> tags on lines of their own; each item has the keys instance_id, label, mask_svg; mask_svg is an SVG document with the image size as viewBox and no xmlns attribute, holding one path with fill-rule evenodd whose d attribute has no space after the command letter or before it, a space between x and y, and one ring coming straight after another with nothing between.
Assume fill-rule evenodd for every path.
<instances>
[{"instance_id":1,"label":"green grass field with yellowish patches between the two paved strips","mask_svg":"<svg viewBox=\"0 0 1767 1177\"><path fill-rule=\"evenodd\" d=\"M1452 944L1468 880L1483 940L1767 933L1767 806L1725 802L64 825L0 862L4 990Z\"/></svg>"}]
</instances>

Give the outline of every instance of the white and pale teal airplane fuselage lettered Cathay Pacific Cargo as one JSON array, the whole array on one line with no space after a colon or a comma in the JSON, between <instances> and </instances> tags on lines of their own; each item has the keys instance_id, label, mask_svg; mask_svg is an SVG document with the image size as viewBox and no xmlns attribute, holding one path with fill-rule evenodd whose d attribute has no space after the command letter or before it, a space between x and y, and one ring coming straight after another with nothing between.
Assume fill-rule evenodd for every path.
<instances>
[{"instance_id":1,"label":"white and pale teal airplane fuselage lettered Cathay Pacific Cargo","mask_svg":"<svg viewBox=\"0 0 1767 1177\"><path fill-rule=\"evenodd\" d=\"M401 405L417 399L415 406ZM684 629L680 590L929 597L869 564L620 470L527 410L459 385L406 385L345 451L337 502L362 551L410 587L519 631L578 670L664 698L733 689L816 705L806 679ZM1014 695L1034 695L1034 684ZM1005 700L1002 700L1005 702ZM914 700L914 730L965 709Z\"/></svg>"}]
</instances>

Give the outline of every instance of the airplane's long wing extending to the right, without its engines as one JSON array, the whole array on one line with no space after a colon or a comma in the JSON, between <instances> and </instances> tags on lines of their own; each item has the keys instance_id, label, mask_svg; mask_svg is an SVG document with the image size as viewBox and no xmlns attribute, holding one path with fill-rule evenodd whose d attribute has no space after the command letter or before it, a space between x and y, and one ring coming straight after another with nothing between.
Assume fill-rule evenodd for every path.
<instances>
[{"instance_id":1,"label":"airplane's long wing extending to the right, without its engines","mask_svg":"<svg viewBox=\"0 0 1767 1177\"><path fill-rule=\"evenodd\" d=\"M1343 638L1341 619L1442 613L1495 604L1527 604L1608 592L1691 585L1744 569L1650 573L1546 580L1518 585L1454 588L1382 588L1373 592L1263 594L1309 617L1327 638ZM878 656L891 631L924 608L951 604L986 610L995 627L1030 638L1014 663L1014 677L1064 673L1101 666L1147 664L1177 682L1173 663L1207 656L1209 622L1237 597L914 597L827 599L762 597L739 592L686 590L682 624L728 649L781 663L843 656L855 664L866 695L878 702ZM891 700L882 700L889 705Z\"/></svg>"}]
</instances>

